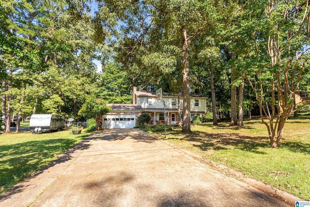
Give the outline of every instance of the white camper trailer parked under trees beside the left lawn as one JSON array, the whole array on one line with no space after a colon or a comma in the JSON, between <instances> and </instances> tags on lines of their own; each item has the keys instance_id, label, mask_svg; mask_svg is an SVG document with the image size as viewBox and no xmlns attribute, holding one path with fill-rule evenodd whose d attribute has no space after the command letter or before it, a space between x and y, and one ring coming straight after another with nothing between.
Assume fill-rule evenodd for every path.
<instances>
[{"instance_id":1,"label":"white camper trailer parked under trees beside the left lawn","mask_svg":"<svg viewBox=\"0 0 310 207\"><path fill-rule=\"evenodd\" d=\"M64 127L64 116L56 114L32 114L29 129L32 132L58 130Z\"/></svg>"}]
</instances>

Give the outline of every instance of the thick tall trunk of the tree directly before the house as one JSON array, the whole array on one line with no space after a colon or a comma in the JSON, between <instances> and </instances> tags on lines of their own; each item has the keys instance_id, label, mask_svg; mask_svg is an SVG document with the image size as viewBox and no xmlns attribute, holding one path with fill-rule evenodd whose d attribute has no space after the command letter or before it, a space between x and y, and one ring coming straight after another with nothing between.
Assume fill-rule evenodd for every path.
<instances>
[{"instance_id":1,"label":"thick tall trunk of the tree directly before the house","mask_svg":"<svg viewBox=\"0 0 310 207\"><path fill-rule=\"evenodd\" d=\"M190 130L190 96L189 96L189 63L188 63L188 43L186 38L186 28L182 28L182 76L183 76L183 125L182 133L189 134Z\"/></svg>"}]
</instances>

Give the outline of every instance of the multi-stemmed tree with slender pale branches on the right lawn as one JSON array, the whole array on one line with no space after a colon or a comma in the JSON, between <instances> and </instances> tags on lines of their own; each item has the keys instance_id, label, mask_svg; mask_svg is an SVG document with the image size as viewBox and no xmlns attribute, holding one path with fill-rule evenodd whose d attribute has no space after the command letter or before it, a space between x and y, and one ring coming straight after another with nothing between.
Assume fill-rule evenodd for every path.
<instances>
[{"instance_id":1,"label":"multi-stemmed tree with slender pale branches on the right lawn","mask_svg":"<svg viewBox=\"0 0 310 207\"><path fill-rule=\"evenodd\" d=\"M278 147L285 122L294 111L294 94L309 60L309 2L259 1L249 4L248 15L255 17L253 23L259 27L251 32L257 61L248 72L248 80L259 101L270 146ZM255 77L254 74L258 78L256 85L249 78Z\"/></svg>"}]
</instances>

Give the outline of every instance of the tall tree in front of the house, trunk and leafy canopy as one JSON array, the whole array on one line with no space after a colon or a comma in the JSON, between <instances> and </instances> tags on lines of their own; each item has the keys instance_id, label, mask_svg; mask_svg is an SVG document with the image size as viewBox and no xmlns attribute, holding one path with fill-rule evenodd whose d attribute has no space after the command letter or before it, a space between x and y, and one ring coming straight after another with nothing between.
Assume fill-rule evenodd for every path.
<instances>
[{"instance_id":1,"label":"tall tree in front of the house, trunk and leafy canopy","mask_svg":"<svg viewBox=\"0 0 310 207\"><path fill-rule=\"evenodd\" d=\"M132 16L137 16L126 20L127 31L134 28L132 31L136 32L138 29L142 32L135 35L137 38L132 38L134 32L131 32L127 39L124 39L132 43L131 46L126 47L128 48L127 54L132 54L135 51L136 54L147 57L144 58L144 64L148 64L147 61L153 57L152 62L162 70L162 73L172 73L179 70L183 79L182 133L190 133L190 63L188 50L191 47L191 42L204 29L212 25L208 23L212 19L212 2L209 0L202 2L198 0L151 0L131 1L131 3L134 6L130 5L128 7L130 9L125 11L128 11ZM115 4L124 5L124 3L116 3L115 1L110 5L115 7ZM137 10L133 10L133 8ZM140 8L145 8L145 10L136 12L140 11ZM120 14L127 13L124 13L123 9L123 13L121 11ZM135 40L131 41L132 39ZM144 44L145 41L147 44ZM143 50L139 46L145 47L146 55L137 52ZM175 48L178 48L178 51ZM128 56L125 55L125 57ZM156 75L158 76L158 74Z\"/></svg>"}]
</instances>

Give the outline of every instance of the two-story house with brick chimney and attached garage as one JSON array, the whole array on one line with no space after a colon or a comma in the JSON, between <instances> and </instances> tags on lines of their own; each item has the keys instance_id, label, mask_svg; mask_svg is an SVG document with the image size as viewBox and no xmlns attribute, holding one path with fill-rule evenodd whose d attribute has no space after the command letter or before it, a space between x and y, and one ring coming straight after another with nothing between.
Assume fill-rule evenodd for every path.
<instances>
[{"instance_id":1,"label":"two-story house with brick chimney and attached garage","mask_svg":"<svg viewBox=\"0 0 310 207\"><path fill-rule=\"evenodd\" d=\"M166 123L177 125L179 113L183 112L183 96L163 93L162 99L166 104ZM151 116L152 125L163 125L165 122L164 104L156 98L155 92L137 91L133 88L132 104L108 104L111 111L103 116L104 128L133 128L141 113ZM206 98L192 95L190 99L191 119L194 115L202 116L206 112Z\"/></svg>"}]
</instances>

